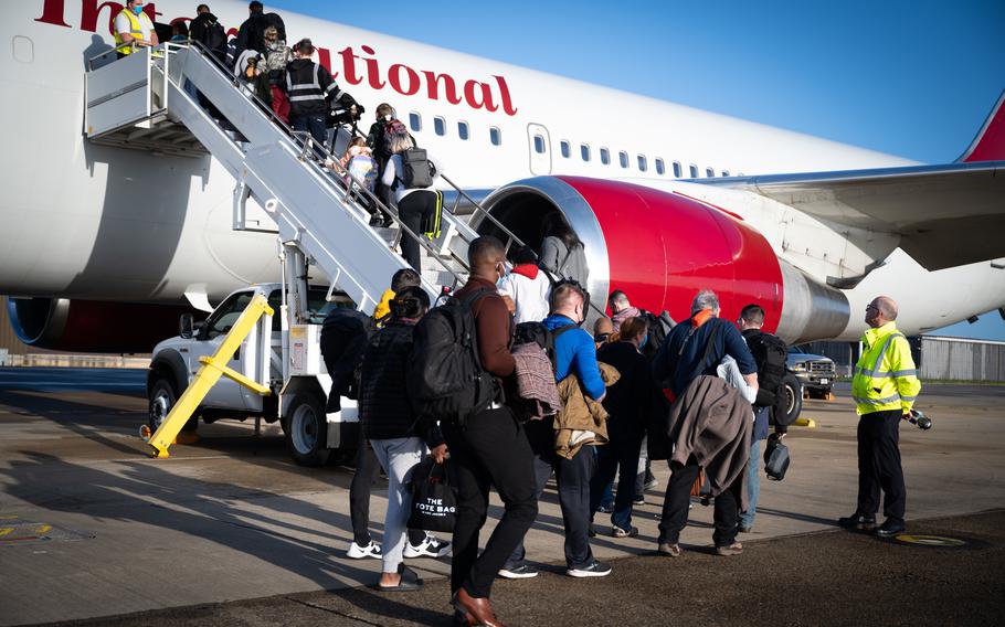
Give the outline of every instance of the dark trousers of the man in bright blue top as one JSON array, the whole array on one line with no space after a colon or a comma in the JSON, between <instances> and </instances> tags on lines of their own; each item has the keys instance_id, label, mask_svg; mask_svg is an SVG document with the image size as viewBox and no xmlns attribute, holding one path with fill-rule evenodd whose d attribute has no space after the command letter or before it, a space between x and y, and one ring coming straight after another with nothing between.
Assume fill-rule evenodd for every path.
<instances>
[{"instance_id":1,"label":"dark trousers of the man in bright blue top","mask_svg":"<svg viewBox=\"0 0 1005 627\"><path fill-rule=\"evenodd\" d=\"M556 455L553 425L553 421L549 418L527 422L523 428L533 451L536 495L539 499L554 470L559 506L562 508L562 524L565 528L565 565L579 568L593 563L593 551L590 550L590 478L593 476L596 460L593 451L586 446L581 447L572 459ZM506 566L520 566L526 556L527 551L520 542L506 561Z\"/></svg>"}]
</instances>

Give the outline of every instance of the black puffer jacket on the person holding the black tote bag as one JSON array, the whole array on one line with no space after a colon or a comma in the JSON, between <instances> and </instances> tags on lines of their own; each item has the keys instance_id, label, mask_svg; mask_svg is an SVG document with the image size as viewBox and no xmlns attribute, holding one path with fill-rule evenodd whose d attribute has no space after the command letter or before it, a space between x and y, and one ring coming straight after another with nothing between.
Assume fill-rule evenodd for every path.
<instances>
[{"instance_id":1,"label":"black puffer jacket on the person holding the black tote bag","mask_svg":"<svg viewBox=\"0 0 1005 627\"><path fill-rule=\"evenodd\" d=\"M415 325L392 319L370 338L360 375L359 418L367 439L419 436L443 443L435 424L420 422L406 391Z\"/></svg>"}]
</instances>

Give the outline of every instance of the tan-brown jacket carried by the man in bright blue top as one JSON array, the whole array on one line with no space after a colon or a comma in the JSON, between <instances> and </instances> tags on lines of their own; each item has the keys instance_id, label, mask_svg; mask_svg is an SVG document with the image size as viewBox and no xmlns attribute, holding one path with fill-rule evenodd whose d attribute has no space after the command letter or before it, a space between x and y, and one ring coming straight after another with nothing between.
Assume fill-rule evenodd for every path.
<instances>
[{"instance_id":1,"label":"tan-brown jacket carried by the man in bright blue top","mask_svg":"<svg viewBox=\"0 0 1005 627\"><path fill-rule=\"evenodd\" d=\"M604 386L610 387L621 379L617 370L606 363L600 365ZM601 403L583 394L583 386L574 374L559 381L562 410L554 417L554 451L572 459L584 444L607 444L607 411Z\"/></svg>"}]
</instances>

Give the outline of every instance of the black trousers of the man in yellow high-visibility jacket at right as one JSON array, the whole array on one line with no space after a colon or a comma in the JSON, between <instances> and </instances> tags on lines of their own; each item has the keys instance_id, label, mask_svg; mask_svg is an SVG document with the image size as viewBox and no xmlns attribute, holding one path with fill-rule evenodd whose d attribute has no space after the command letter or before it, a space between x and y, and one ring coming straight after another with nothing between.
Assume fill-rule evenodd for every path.
<instances>
[{"instance_id":1,"label":"black trousers of the man in yellow high-visibility jacket at right","mask_svg":"<svg viewBox=\"0 0 1005 627\"><path fill-rule=\"evenodd\" d=\"M858 418L858 513L875 514L882 489L882 513L900 523L907 506L899 446L902 416L892 410Z\"/></svg>"}]
</instances>

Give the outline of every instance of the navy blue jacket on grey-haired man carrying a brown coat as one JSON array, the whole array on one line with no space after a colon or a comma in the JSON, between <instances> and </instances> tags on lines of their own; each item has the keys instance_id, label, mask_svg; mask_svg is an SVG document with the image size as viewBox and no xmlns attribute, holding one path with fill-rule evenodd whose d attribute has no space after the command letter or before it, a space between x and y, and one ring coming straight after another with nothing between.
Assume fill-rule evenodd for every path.
<instances>
[{"instance_id":1,"label":"navy blue jacket on grey-haired man carrying a brown coat","mask_svg":"<svg viewBox=\"0 0 1005 627\"><path fill-rule=\"evenodd\" d=\"M700 362L705 354L705 347L711 330L718 327L716 342L706 361ZM690 338L690 319L680 322L667 336L659 351L653 359L653 380L657 385L667 385L674 394L680 396L687 386L701 374L716 376L716 366L722 358L730 355L737 360L740 374L754 374L758 364L754 363L743 336L732 322L721 318L711 318L698 327ZM684 350L681 350L681 347Z\"/></svg>"}]
</instances>

